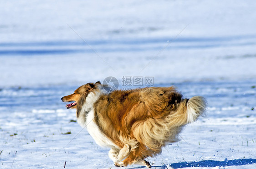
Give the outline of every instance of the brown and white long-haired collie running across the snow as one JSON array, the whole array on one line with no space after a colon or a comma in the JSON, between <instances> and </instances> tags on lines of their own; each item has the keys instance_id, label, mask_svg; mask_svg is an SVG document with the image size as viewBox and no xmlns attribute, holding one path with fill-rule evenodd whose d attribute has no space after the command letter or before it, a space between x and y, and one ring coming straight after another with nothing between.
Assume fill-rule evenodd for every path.
<instances>
[{"instance_id":1,"label":"brown and white long-haired collie running across the snow","mask_svg":"<svg viewBox=\"0 0 256 169\"><path fill-rule=\"evenodd\" d=\"M77 109L77 122L95 142L109 147L118 167L140 164L179 140L182 128L205 112L206 100L184 99L174 87L147 87L108 93L100 82L87 83L62 97L67 109Z\"/></svg>"}]
</instances>

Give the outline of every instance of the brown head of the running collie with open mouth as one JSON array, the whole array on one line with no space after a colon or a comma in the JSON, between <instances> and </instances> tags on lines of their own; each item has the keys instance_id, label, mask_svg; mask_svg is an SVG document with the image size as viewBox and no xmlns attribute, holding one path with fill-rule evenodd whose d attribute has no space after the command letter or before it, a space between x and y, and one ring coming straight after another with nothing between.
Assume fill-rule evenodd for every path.
<instances>
[{"instance_id":1,"label":"brown head of the running collie with open mouth","mask_svg":"<svg viewBox=\"0 0 256 169\"><path fill-rule=\"evenodd\" d=\"M67 104L66 108L67 109L76 109L77 104L81 100L84 100L89 92L92 92L94 89L96 89L99 85L101 85L101 82L96 82L96 83L87 83L85 85L82 85L75 90L75 92L71 95L67 95L61 98L61 101L63 102L70 102L72 103Z\"/></svg>"}]
</instances>

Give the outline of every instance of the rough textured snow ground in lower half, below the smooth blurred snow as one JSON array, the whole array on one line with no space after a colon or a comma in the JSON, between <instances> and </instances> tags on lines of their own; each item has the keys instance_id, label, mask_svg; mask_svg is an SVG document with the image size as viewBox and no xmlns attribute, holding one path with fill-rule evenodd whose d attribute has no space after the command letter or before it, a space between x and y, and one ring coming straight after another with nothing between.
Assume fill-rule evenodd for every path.
<instances>
[{"instance_id":1,"label":"rough textured snow ground in lower half, below the smooth blurred snow","mask_svg":"<svg viewBox=\"0 0 256 169\"><path fill-rule=\"evenodd\" d=\"M202 95L209 102L207 117L187 126L181 140L163 149L155 162L168 166L256 167L256 81L181 82L175 85L185 97ZM1 168L116 168L108 149L95 144L87 130L76 123L75 111L60 98L77 86L6 87L0 91ZM65 133L71 134L65 135ZM16 134L16 135L15 135ZM15 155L15 153L17 154ZM228 167L226 167L226 165ZM136 168L136 166L128 168ZM138 167L138 166L137 166Z\"/></svg>"}]
</instances>

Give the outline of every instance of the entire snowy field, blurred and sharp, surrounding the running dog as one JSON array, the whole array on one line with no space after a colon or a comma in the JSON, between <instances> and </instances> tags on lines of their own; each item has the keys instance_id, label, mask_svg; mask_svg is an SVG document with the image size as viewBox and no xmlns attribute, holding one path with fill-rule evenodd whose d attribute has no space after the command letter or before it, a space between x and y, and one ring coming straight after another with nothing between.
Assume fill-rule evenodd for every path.
<instances>
[{"instance_id":1,"label":"entire snowy field, blurred and sharp, surrounding the running dog","mask_svg":"<svg viewBox=\"0 0 256 169\"><path fill-rule=\"evenodd\" d=\"M155 168L256 168L255 7L254 0L1 0L0 168L116 168L60 100L108 76L120 84L123 76L150 76L154 86L207 98L207 117L148 159Z\"/></svg>"}]
</instances>

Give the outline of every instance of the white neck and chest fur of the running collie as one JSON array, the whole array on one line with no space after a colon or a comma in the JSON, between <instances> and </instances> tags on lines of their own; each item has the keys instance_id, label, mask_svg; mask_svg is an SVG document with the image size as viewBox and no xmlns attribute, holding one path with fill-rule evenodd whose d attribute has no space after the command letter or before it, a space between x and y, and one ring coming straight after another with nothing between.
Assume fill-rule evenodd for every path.
<instances>
[{"instance_id":1,"label":"white neck and chest fur of the running collie","mask_svg":"<svg viewBox=\"0 0 256 169\"><path fill-rule=\"evenodd\" d=\"M99 130L99 127L95 122L95 111L93 104L97 101L100 94L101 92L91 92L88 94L86 101L82 106L82 110L77 122L80 126L87 127L88 133L92 136L97 145L100 145L101 147L118 147ZM87 112L87 115L85 115L85 112Z\"/></svg>"}]
</instances>

